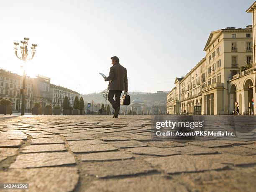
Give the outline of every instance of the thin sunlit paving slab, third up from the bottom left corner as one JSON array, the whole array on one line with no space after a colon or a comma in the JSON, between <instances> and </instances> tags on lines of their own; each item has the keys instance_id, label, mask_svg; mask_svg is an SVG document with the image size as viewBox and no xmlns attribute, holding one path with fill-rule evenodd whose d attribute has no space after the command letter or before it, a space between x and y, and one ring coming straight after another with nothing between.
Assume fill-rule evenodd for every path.
<instances>
[{"instance_id":1,"label":"thin sunlit paving slab, third up from the bottom left corner","mask_svg":"<svg viewBox=\"0 0 256 192\"><path fill-rule=\"evenodd\" d=\"M66 151L64 144L29 145L23 148L22 153L38 153L47 151Z\"/></svg>"}]
</instances>

